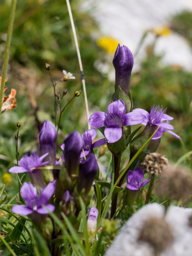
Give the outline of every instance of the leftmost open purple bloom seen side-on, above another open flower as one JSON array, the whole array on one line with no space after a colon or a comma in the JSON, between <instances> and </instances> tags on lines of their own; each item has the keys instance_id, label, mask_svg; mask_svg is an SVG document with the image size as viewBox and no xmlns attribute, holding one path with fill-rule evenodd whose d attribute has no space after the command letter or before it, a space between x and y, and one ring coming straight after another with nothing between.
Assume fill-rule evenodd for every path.
<instances>
[{"instance_id":1,"label":"leftmost open purple bloom seen side-on, above another open flower","mask_svg":"<svg viewBox=\"0 0 192 256\"><path fill-rule=\"evenodd\" d=\"M48 155L46 153L39 157L38 153L32 153L30 156L24 155L19 161L20 166L14 166L9 169L12 173L32 172L32 168L40 167L49 164L49 161L42 162Z\"/></svg>"}]
</instances>

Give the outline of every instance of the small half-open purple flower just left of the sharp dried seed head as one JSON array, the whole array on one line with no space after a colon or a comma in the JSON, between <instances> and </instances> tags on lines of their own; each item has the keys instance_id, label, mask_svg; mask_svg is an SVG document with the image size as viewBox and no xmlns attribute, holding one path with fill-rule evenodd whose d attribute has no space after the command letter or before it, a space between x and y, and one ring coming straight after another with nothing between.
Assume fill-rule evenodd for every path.
<instances>
[{"instance_id":1,"label":"small half-open purple flower just left of the sharp dried seed head","mask_svg":"<svg viewBox=\"0 0 192 256\"><path fill-rule=\"evenodd\" d=\"M132 172L129 170L127 175L127 189L130 190L139 190L144 185L146 185L150 179L146 179L146 181L142 182L144 178L144 172L141 167L135 168L135 170Z\"/></svg>"}]
</instances>

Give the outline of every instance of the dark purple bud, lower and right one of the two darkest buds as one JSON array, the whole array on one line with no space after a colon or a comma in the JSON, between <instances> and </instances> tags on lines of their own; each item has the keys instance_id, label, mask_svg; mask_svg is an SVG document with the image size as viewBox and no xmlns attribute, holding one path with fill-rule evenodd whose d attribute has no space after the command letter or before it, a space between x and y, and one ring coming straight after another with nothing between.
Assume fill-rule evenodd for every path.
<instances>
[{"instance_id":1,"label":"dark purple bud, lower and right one of the two darkest buds","mask_svg":"<svg viewBox=\"0 0 192 256\"><path fill-rule=\"evenodd\" d=\"M89 192L97 171L97 160L94 154L89 154L86 160L82 161L79 165L78 192L82 191L82 189L85 189L85 194Z\"/></svg>"}]
</instances>

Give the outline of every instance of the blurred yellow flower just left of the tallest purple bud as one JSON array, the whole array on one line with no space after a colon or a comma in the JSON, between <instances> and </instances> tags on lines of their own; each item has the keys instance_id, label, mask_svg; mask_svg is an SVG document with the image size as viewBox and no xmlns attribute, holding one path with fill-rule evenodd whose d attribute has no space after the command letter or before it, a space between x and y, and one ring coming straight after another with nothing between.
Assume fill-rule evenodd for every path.
<instances>
[{"instance_id":1,"label":"blurred yellow flower just left of the tallest purple bud","mask_svg":"<svg viewBox=\"0 0 192 256\"><path fill-rule=\"evenodd\" d=\"M119 42L112 37L100 37L97 39L97 45L108 51L108 53L115 53Z\"/></svg>"}]
</instances>

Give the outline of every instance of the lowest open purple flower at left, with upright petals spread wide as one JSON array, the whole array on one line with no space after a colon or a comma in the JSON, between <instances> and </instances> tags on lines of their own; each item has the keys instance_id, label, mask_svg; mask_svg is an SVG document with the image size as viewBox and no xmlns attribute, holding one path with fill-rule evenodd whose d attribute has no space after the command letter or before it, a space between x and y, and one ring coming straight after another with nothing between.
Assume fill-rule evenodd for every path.
<instances>
[{"instance_id":1,"label":"lowest open purple flower at left, with upright petals spread wide","mask_svg":"<svg viewBox=\"0 0 192 256\"><path fill-rule=\"evenodd\" d=\"M24 182L21 187L21 196L25 200L27 206L14 205L12 212L19 215L28 215L33 212L48 214L48 211L43 208L43 205L45 205L50 212L53 212L55 210L55 206L50 205L48 201L54 194L55 182L56 181L50 182L43 190L40 190L40 196L37 193L36 187L33 187L31 183Z\"/></svg>"}]
</instances>

